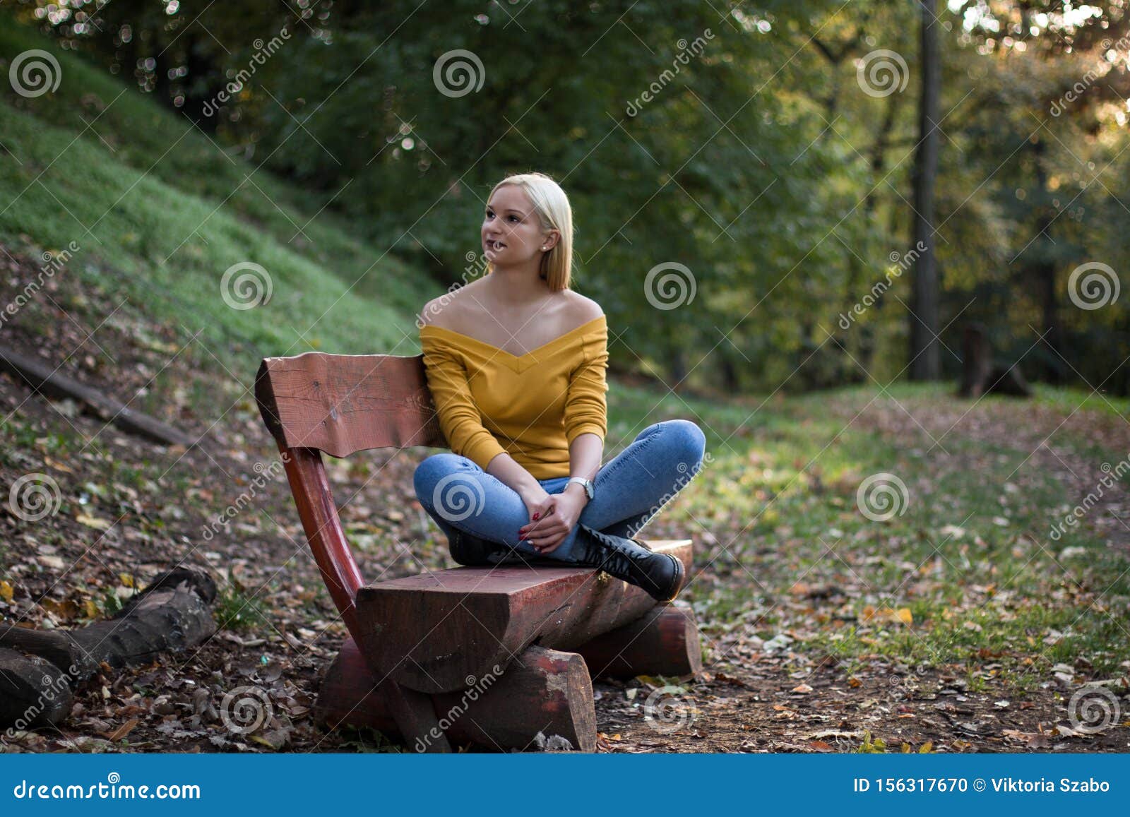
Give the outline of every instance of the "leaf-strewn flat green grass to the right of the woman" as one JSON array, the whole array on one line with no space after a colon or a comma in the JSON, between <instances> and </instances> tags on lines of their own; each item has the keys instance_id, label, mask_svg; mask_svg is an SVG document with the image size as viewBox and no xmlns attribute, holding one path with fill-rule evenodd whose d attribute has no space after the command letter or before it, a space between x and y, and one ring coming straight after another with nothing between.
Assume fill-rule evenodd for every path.
<instances>
[{"instance_id":1,"label":"leaf-strewn flat green grass to the right of the woman","mask_svg":"<svg viewBox=\"0 0 1130 817\"><path fill-rule=\"evenodd\" d=\"M907 406L941 405L954 400L950 389L895 384L889 392ZM1023 467L1012 479L1025 477L1024 490L1006 488L1029 453L1007 441L986 444L957 429L945 440L949 458L941 458L937 449L925 453L929 442L912 444L850 424L873 396L850 388L773 399L749 416L759 400L738 408L673 396L660 401L623 388L610 393L615 417L635 417L658 403L646 419L616 427L625 442L633 428L638 433L669 416L697 419L707 434L712 462L664 511L696 540L705 533L719 540L696 551L696 567L710 563L725 582L701 579L690 597L707 642L736 631L764 640L792 631L803 636L794 651L827 653L846 666L862 657L964 664L970 671L997 662L1007 671L993 678L1018 692L1046 679L1052 664L1080 658L1096 676L1120 671L1125 654L1119 645L1130 627L1124 556L1083 527L1058 542L1049 537L1054 509L1080 497ZM1042 389L1037 400L1066 407L1066 416L1085 396ZM962 410L970 405L955 402ZM1031 405L1012 407L1020 421ZM950 459L975 466L947 466ZM861 480L879 471L899 475L909 492L905 512L881 522L860 513L855 497ZM954 533L956 528L962 531ZM1067 547L1083 549L1061 558ZM844 592L798 602L790 594L796 582ZM863 623L867 606L907 608L913 623ZM712 652L725 655L724 649ZM984 683L979 676L974 684Z\"/></svg>"}]
</instances>

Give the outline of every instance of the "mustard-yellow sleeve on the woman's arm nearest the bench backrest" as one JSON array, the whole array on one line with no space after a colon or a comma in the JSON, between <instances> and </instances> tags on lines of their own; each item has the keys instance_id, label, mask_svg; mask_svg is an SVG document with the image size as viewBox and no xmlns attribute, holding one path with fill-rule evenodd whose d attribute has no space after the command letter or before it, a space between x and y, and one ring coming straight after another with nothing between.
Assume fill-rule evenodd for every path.
<instances>
[{"instance_id":1,"label":"mustard-yellow sleeve on the woman's arm nearest the bench backrest","mask_svg":"<svg viewBox=\"0 0 1130 817\"><path fill-rule=\"evenodd\" d=\"M483 415L467 382L467 367L443 341L421 334L420 346L427 385L447 444L454 453L462 454L485 471L487 463L506 450L483 425Z\"/></svg>"}]
</instances>

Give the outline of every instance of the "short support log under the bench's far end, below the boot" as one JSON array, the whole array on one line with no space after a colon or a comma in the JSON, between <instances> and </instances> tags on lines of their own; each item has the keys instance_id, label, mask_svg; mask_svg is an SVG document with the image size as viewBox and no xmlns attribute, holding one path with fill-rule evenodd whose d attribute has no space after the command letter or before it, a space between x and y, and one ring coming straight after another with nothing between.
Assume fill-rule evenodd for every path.
<instances>
[{"instance_id":1,"label":"short support log under the bench's far end, below the boot","mask_svg":"<svg viewBox=\"0 0 1130 817\"><path fill-rule=\"evenodd\" d=\"M593 678L687 676L703 669L698 625L689 607L662 605L576 651Z\"/></svg>"}]
</instances>

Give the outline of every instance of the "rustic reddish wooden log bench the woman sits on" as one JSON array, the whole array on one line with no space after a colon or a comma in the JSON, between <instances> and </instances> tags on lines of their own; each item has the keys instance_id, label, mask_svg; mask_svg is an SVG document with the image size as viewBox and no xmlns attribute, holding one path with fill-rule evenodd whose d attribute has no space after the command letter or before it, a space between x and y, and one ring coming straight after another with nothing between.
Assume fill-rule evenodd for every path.
<instances>
[{"instance_id":1,"label":"rustic reddish wooden log bench the woman sits on","mask_svg":"<svg viewBox=\"0 0 1130 817\"><path fill-rule=\"evenodd\" d=\"M322 452L447 447L421 355L269 357L255 399L349 632L315 707L329 727L373 727L420 751L450 751L449 738L527 748L538 732L592 751L592 677L702 669L689 608L657 606L640 588L592 568L455 567L365 583ZM690 570L689 540L647 545Z\"/></svg>"}]
</instances>

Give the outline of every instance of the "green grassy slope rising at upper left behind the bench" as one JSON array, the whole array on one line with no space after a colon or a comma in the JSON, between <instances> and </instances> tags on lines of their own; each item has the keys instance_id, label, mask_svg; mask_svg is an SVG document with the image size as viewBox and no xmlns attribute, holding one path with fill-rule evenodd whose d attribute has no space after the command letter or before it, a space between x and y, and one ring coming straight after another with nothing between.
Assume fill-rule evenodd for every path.
<instances>
[{"instance_id":1,"label":"green grassy slope rising at upper left behind the bench","mask_svg":"<svg viewBox=\"0 0 1130 817\"><path fill-rule=\"evenodd\" d=\"M35 99L7 82L7 64L28 49L53 51L62 68L58 90ZM417 350L414 308L438 287L354 238L324 202L6 19L0 63L0 241L36 254L76 242L68 272L155 323L183 325L184 340L202 329L244 382L263 355ZM231 308L220 278L249 261L267 269L272 297Z\"/></svg>"}]
</instances>

